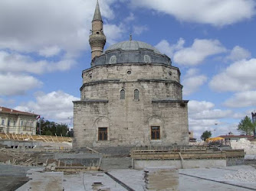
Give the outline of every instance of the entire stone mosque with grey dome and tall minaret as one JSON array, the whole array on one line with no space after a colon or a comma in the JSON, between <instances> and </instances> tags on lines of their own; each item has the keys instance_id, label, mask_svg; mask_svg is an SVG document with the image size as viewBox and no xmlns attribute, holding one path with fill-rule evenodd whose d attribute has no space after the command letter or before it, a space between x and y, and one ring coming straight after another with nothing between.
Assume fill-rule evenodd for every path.
<instances>
[{"instance_id":1,"label":"entire stone mosque with grey dome and tall minaret","mask_svg":"<svg viewBox=\"0 0 256 191\"><path fill-rule=\"evenodd\" d=\"M74 101L74 148L189 144L189 101L171 59L131 37L103 51L98 2L89 41L91 67Z\"/></svg>"}]
</instances>

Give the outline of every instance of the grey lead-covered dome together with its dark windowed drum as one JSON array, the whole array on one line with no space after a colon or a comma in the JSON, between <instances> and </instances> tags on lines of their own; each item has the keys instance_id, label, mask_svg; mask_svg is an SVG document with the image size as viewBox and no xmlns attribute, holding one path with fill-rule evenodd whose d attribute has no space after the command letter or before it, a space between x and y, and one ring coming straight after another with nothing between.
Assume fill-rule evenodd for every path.
<instances>
[{"instance_id":1,"label":"grey lead-covered dome together with its dark windowed drum","mask_svg":"<svg viewBox=\"0 0 256 191\"><path fill-rule=\"evenodd\" d=\"M172 64L170 58L160 53L156 47L141 41L128 40L108 47L102 55L94 57L91 66L120 63L161 63L169 66Z\"/></svg>"}]
</instances>

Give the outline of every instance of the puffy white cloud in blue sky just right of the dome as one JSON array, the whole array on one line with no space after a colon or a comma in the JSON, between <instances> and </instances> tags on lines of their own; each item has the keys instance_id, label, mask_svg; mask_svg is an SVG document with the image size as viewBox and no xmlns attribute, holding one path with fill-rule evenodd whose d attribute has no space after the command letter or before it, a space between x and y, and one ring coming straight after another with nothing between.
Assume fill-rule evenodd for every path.
<instances>
[{"instance_id":1,"label":"puffy white cloud in blue sky just right of the dome","mask_svg":"<svg viewBox=\"0 0 256 191\"><path fill-rule=\"evenodd\" d=\"M175 63L195 66L202 63L206 57L224 53L225 47L218 40L195 39L192 47L178 50L173 57Z\"/></svg>"}]
</instances>

